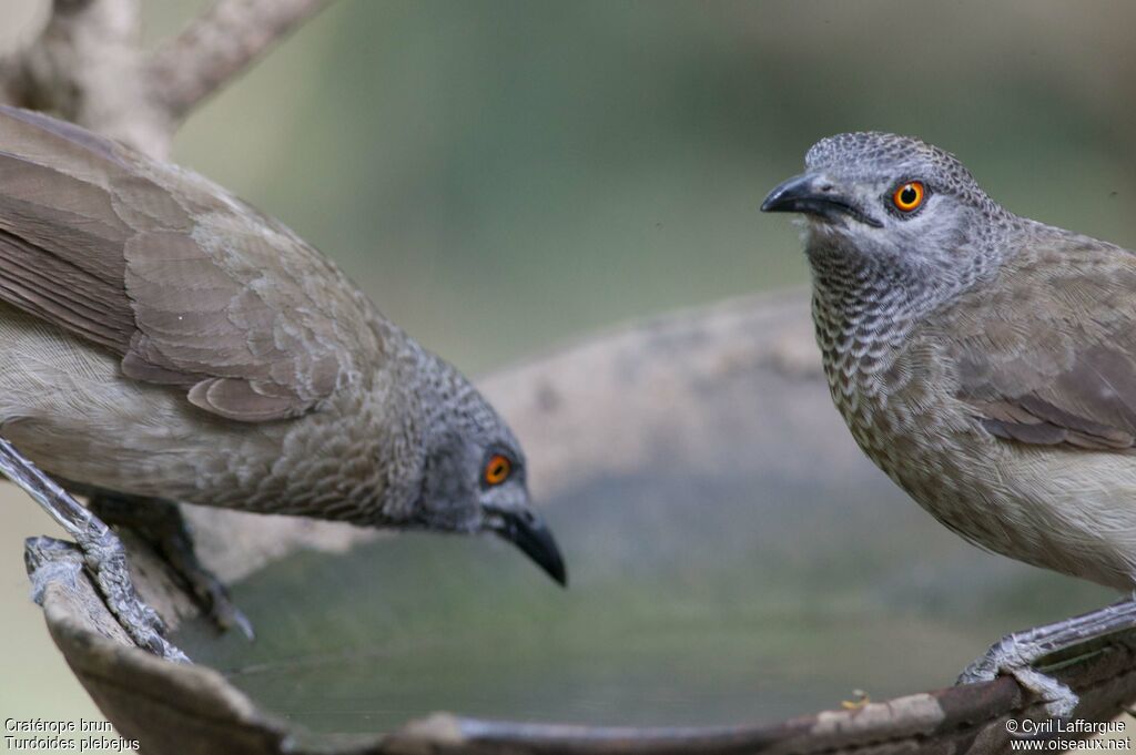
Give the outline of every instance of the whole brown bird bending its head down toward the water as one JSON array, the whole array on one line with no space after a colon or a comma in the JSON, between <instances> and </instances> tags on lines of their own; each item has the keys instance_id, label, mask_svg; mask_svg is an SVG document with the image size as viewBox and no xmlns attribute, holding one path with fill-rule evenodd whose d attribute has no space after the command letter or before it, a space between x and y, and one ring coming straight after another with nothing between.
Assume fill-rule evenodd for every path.
<instances>
[{"instance_id":1,"label":"whole brown bird bending its head down toward the water","mask_svg":"<svg viewBox=\"0 0 1136 755\"><path fill-rule=\"evenodd\" d=\"M218 621L248 623L169 502L490 531L566 584L512 433L331 261L197 174L7 107L0 470L75 538L135 641L172 658L108 522L154 539Z\"/></svg>"}]
</instances>

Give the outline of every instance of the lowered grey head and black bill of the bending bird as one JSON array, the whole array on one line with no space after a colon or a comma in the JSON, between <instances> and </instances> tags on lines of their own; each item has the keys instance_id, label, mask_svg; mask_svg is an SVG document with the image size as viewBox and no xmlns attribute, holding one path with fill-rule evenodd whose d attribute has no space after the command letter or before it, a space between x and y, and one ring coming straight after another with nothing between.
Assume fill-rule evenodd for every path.
<instances>
[{"instance_id":1,"label":"lowered grey head and black bill of the bending bird","mask_svg":"<svg viewBox=\"0 0 1136 755\"><path fill-rule=\"evenodd\" d=\"M531 506L520 444L461 374L437 364L425 418L420 497L408 526L494 532L566 585L560 550Z\"/></svg>"}]
</instances>

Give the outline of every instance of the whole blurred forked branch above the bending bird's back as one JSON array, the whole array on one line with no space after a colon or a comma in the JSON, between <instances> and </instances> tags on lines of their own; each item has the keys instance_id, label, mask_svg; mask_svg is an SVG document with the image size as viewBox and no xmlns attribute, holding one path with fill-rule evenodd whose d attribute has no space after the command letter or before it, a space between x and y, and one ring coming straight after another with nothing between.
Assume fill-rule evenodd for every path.
<instances>
[{"instance_id":1,"label":"whole blurred forked branch above the bending bird's back","mask_svg":"<svg viewBox=\"0 0 1136 755\"><path fill-rule=\"evenodd\" d=\"M53 0L39 37L0 60L0 101L165 158L198 103L328 2L218 0L147 56L140 0Z\"/></svg>"}]
</instances>

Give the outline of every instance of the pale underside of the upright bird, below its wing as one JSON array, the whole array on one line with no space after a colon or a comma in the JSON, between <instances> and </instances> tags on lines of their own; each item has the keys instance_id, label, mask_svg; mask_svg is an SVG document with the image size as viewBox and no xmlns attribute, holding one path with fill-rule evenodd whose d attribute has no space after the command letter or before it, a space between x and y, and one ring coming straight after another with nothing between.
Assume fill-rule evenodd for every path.
<instances>
[{"instance_id":1,"label":"pale underside of the upright bird, below its wing","mask_svg":"<svg viewBox=\"0 0 1136 755\"><path fill-rule=\"evenodd\" d=\"M917 411L894 397L885 404L878 394L834 392L834 401L864 454L970 543L1110 587L1136 586L1136 459L1011 447L977 421L930 419L961 412Z\"/></svg>"}]
</instances>

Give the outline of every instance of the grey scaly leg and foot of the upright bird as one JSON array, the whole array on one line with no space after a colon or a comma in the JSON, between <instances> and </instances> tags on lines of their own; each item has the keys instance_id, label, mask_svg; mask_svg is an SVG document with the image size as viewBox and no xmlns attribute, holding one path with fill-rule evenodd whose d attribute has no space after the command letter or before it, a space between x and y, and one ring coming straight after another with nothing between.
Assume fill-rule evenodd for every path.
<instances>
[{"instance_id":1,"label":"grey scaly leg and foot of the upright bird","mask_svg":"<svg viewBox=\"0 0 1136 755\"><path fill-rule=\"evenodd\" d=\"M1067 719L1077 707L1076 693L1035 669L1034 664L1053 653L1130 629L1136 629L1134 598L1052 624L1013 632L992 645L980 658L967 666L958 683L991 681L1000 673L1008 673L1044 701L1050 715Z\"/></svg>"}]
</instances>

